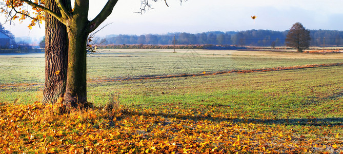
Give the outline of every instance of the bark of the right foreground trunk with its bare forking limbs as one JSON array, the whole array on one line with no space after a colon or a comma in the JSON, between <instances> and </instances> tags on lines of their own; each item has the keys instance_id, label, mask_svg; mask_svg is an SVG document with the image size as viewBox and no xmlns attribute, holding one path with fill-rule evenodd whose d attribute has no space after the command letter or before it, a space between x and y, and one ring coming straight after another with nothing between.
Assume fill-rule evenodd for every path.
<instances>
[{"instance_id":1,"label":"bark of the right foreground trunk with its bare forking limbs","mask_svg":"<svg viewBox=\"0 0 343 154\"><path fill-rule=\"evenodd\" d=\"M77 107L79 105L88 106L87 104L87 76L86 76L86 42L88 34L94 31L108 17L117 0L109 0L103 10L92 20L88 21L89 1L75 0L73 11L66 5L58 2L61 15L46 11L54 15L60 22L67 27L68 33L68 63L67 63L67 81L66 91L63 104L66 107ZM31 4L30 2L27 2ZM70 3L70 1L68 1ZM34 7L41 7L32 4ZM71 6L68 4L68 6ZM44 8L42 8L44 9ZM55 62L55 61L54 61ZM53 66L57 66L54 64ZM47 67L49 67L47 65ZM51 69L51 68L49 68ZM53 70L58 71L58 70ZM59 73L65 71L59 71ZM59 74L58 73L58 74ZM55 73L57 74L57 73Z\"/></svg>"}]
</instances>

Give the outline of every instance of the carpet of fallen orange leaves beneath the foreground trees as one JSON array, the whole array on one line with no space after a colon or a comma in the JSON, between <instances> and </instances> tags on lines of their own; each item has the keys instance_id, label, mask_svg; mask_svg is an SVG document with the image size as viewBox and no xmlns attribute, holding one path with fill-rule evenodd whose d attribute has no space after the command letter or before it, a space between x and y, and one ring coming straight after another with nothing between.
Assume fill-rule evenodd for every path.
<instances>
[{"instance_id":1,"label":"carpet of fallen orange leaves beneath the foreground trees","mask_svg":"<svg viewBox=\"0 0 343 154\"><path fill-rule=\"evenodd\" d=\"M165 106L168 106L166 104ZM285 125L204 109L120 106L57 114L52 105L0 104L2 153L343 153L342 134L307 137ZM238 118L239 119L239 118ZM341 125L332 126L340 128ZM341 128L340 128L341 129ZM320 130L317 130L318 132Z\"/></svg>"}]
</instances>

